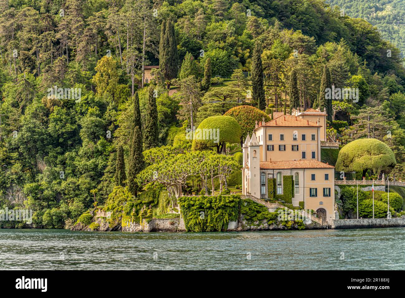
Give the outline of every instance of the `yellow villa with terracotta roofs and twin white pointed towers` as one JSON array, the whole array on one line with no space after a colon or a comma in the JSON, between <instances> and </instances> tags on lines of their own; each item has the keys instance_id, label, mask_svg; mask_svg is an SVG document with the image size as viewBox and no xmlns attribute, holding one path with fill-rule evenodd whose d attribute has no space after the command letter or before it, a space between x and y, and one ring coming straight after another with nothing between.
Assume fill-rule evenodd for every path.
<instances>
[{"instance_id":1,"label":"yellow villa with terracotta roofs and twin white pointed towers","mask_svg":"<svg viewBox=\"0 0 405 298\"><path fill-rule=\"evenodd\" d=\"M303 202L304 209L314 210L332 224L335 167L321 162L326 112L312 110L293 111L292 115L276 115L271 121L256 123L252 137L247 135L242 148L242 193L269 198L269 179L275 179L274 194L282 196L283 177L292 176L292 204Z\"/></svg>"}]
</instances>

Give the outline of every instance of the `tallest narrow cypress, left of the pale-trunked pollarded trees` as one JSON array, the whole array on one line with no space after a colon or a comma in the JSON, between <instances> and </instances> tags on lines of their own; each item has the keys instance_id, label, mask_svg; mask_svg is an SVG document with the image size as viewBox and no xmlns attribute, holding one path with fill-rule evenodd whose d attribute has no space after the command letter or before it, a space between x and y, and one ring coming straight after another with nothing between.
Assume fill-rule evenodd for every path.
<instances>
[{"instance_id":1,"label":"tallest narrow cypress, left of the pale-trunked pollarded trees","mask_svg":"<svg viewBox=\"0 0 405 298\"><path fill-rule=\"evenodd\" d=\"M138 92L132 97L133 116L130 132L129 158L128 158L128 188L132 195L138 195L138 184L135 182L136 175L143 170L143 148L142 148L142 132L141 132L141 112L139 110Z\"/></svg>"}]
</instances>

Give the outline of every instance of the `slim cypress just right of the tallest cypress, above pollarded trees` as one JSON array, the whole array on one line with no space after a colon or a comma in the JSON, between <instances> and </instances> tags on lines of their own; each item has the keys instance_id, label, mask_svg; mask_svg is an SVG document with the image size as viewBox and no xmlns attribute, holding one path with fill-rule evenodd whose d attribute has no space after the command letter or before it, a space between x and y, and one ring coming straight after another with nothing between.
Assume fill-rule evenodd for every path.
<instances>
[{"instance_id":1,"label":"slim cypress just right of the tallest cypress, above pollarded trees","mask_svg":"<svg viewBox=\"0 0 405 298\"><path fill-rule=\"evenodd\" d=\"M150 85L148 89L148 103L146 106L145 134L143 136L143 145L145 150L158 146L158 107L154 89L156 85Z\"/></svg>"}]
</instances>

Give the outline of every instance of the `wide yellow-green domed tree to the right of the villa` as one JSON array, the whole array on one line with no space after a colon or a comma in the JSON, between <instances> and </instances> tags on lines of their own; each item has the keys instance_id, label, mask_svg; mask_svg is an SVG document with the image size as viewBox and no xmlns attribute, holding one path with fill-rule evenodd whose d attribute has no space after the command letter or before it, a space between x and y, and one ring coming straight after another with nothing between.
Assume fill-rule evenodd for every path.
<instances>
[{"instance_id":1,"label":"wide yellow-green domed tree to the right of the villa","mask_svg":"<svg viewBox=\"0 0 405 298\"><path fill-rule=\"evenodd\" d=\"M336 170L345 172L389 172L396 165L394 153L375 138L360 138L345 145L337 157Z\"/></svg>"}]
</instances>

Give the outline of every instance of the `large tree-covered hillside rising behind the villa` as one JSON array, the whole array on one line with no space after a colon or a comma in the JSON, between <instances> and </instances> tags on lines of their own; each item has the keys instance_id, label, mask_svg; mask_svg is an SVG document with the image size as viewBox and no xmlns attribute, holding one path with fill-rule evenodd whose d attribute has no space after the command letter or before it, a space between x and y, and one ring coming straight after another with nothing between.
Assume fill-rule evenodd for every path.
<instances>
[{"instance_id":1,"label":"large tree-covered hillside rising behind the villa","mask_svg":"<svg viewBox=\"0 0 405 298\"><path fill-rule=\"evenodd\" d=\"M205 192L199 159L227 165L211 171L213 188L231 186L228 175L237 186L240 166L217 153L237 151L264 112L297 107L327 108L328 134L343 145L382 140L395 154L391 175L405 178L400 51L322 0L0 0L0 24L0 206L34 210L34 226L61 228L104 204L167 210L164 179L146 189L140 179L181 168L169 195ZM358 101L326 102L331 84L357 88ZM241 104L262 111L222 116ZM211 116L227 133L208 158L186 129Z\"/></svg>"}]
</instances>

